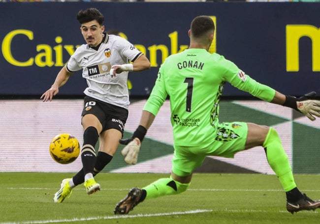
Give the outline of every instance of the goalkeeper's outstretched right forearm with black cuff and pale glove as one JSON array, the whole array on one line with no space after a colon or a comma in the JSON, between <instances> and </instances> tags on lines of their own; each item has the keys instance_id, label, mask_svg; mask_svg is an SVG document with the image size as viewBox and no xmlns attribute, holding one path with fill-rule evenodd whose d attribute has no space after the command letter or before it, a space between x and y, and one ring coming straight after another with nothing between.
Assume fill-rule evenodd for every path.
<instances>
[{"instance_id":1,"label":"goalkeeper's outstretched right forearm with black cuff and pale glove","mask_svg":"<svg viewBox=\"0 0 320 224\"><path fill-rule=\"evenodd\" d=\"M315 117L320 117L320 100L310 99L310 97L315 95L316 92L311 92L296 98L294 96L285 96L276 91L271 102L295 109L306 115L311 121L315 121Z\"/></svg>"}]
</instances>

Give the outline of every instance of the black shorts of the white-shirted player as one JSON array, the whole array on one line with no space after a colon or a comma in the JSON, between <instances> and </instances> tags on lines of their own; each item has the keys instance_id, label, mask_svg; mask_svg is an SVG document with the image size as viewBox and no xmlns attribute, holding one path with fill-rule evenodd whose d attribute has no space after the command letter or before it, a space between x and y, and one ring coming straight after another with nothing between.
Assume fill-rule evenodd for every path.
<instances>
[{"instance_id":1,"label":"black shorts of the white-shirted player","mask_svg":"<svg viewBox=\"0 0 320 224\"><path fill-rule=\"evenodd\" d=\"M128 119L127 109L85 96L81 116L86 114L93 114L97 117L102 125L102 131L114 128L124 133Z\"/></svg>"}]
</instances>

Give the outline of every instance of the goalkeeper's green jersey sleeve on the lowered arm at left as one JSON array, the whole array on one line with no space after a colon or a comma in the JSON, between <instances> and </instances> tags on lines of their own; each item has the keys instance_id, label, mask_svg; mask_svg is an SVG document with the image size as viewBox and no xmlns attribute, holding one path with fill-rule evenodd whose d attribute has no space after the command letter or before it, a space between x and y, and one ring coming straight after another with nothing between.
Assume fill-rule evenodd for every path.
<instances>
[{"instance_id":1,"label":"goalkeeper's green jersey sleeve on the lowered arm at left","mask_svg":"<svg viewBox=\"0 0 320 224\"><path fill-rule=\"evenodd\" d=\"M164 100L168 96L168 93L165 89L165 79L164 79L164 64L160 66L156 84L153 87L151 94L143 107L143 110L149 111L153 115L157 115L160 107L162 106Z\"/></svg>"}]
</instances>

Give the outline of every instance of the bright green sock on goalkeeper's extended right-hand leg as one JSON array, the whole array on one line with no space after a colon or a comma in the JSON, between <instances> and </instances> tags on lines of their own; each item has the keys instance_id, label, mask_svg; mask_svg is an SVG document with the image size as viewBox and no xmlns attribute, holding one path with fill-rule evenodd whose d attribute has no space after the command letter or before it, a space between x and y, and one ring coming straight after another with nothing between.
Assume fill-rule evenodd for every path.
<instances>
[{"instance_id":1,"label":"bright green sock on goalkeeper's extended right-hand leg","mask_svg":"<svg viewBox=\"0 0 320 224\"><path fill-rule=\"evenodd\" d=\"M264 140L263 148L267 155L267 160L272 170L276 173L283 189L288 192L296 187L288 156L282 147L277 131L269 129Z\"/></svg>"}]
</instances>

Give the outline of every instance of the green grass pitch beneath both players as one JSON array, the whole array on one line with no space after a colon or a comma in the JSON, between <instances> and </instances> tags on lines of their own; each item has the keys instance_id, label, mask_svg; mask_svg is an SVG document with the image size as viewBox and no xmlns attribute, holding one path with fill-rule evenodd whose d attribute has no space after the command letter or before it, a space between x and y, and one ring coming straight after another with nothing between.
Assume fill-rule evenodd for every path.
<instances>
[{"instance_id":1,"label":"green grass pitch beneath both players","mask_svg":"<svg viewBox=\"0 0 320 224\"><path fill-rule=\"evenodd\" d=\"M70 173L0 173L0 224L316 224L320 209L291 215L274 175L194 174L187 192L146 200L126 216L113 209L131 187L168 174L100 173L101 191L77 186L63 203L53 203ZM295 175L302 192L320 199L320 175Z\"/></svg>"}]
</instances>

